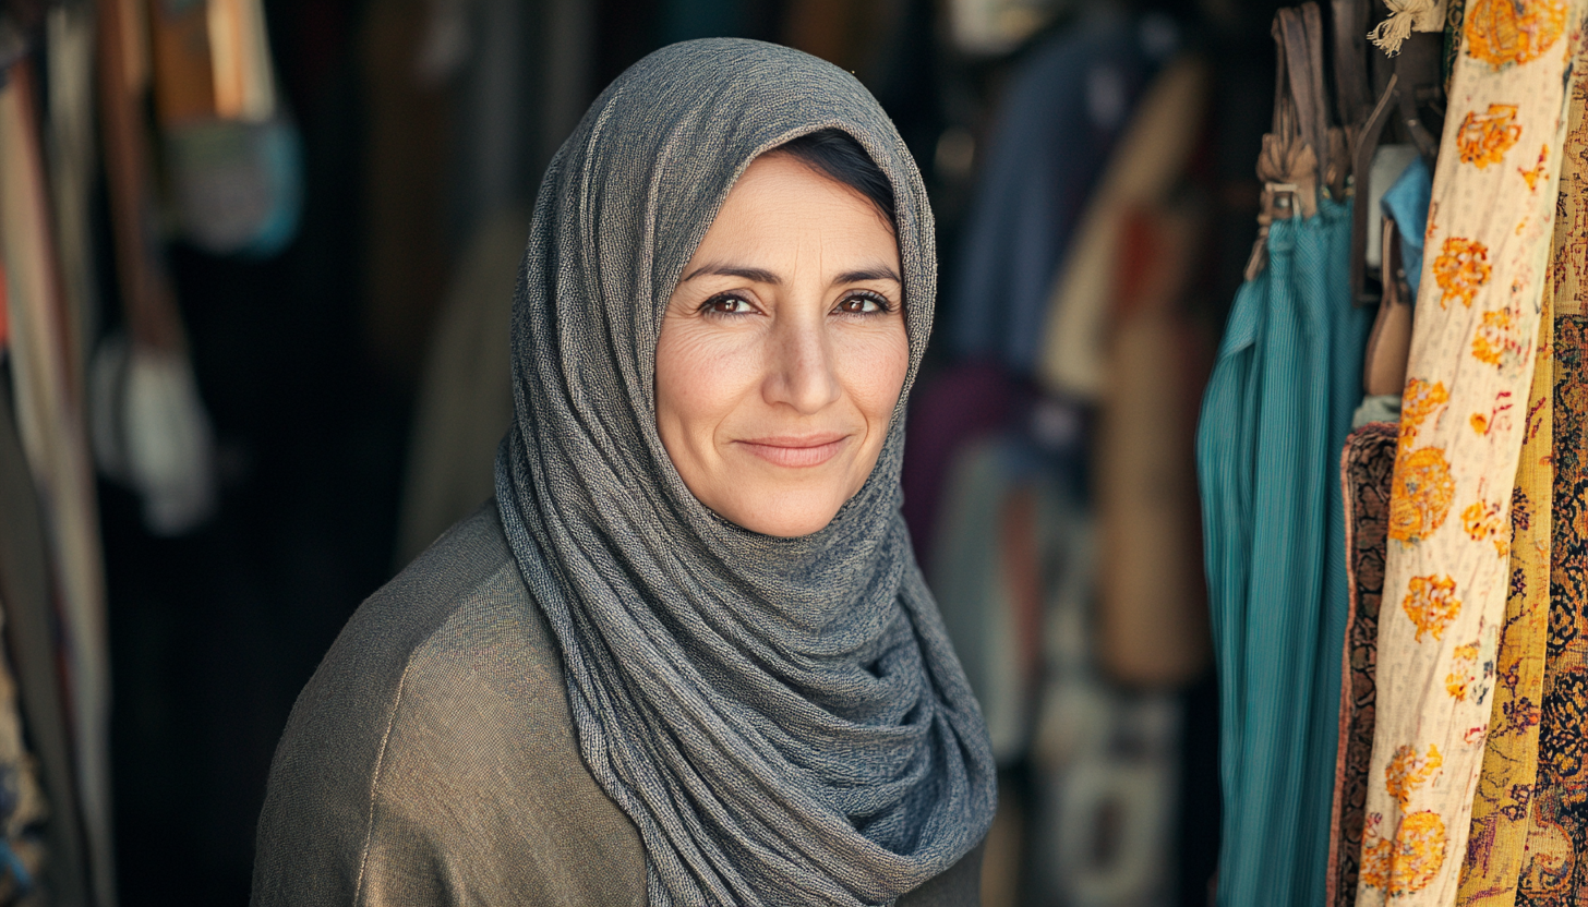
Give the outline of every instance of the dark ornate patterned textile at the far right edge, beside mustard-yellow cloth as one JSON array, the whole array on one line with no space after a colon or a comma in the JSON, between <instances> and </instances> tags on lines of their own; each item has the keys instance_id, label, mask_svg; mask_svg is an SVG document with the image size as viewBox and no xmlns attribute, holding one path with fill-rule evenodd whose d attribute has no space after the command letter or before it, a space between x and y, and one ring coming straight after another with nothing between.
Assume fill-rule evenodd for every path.
<instances>
[{"instance_id":1,"label":"dark ornate patterned textile at the far right edge, beside mustard-yellow cloth","mask_svg":"<svg viewBox=\"0 0 1588 907\"><path fill-rule=\"evenodd\" d=\"M1583 59L1578 57L1580 67ZM1526 812L1526 861L1517 883L1518 907L1564 907L1588 891L1588 281L1582 249L1588 237L1588 83L1572 83L1571 114L1561 146L1561 178L1550 262L1555 310L1553 465L1550 521L1550 610L1544 683L1531 715L1539 723L1539 767L1531 788L1515 791Z\"/></svg>"}]
</instances>

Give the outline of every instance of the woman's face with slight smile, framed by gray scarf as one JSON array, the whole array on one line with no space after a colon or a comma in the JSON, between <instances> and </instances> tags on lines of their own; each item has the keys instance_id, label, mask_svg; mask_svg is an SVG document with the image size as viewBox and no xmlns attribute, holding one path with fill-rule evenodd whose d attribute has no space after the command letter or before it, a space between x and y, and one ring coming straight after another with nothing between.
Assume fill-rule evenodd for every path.
<instances>
[{"instance_id":1,"label":"woman's face with slight smile, framed by gray scarf","mask_svg":"<svg viewBox=\"0 0 1588 907\"><path fill-rule=\"evenodd\" d=\"M910 365L899 273L864 195L788 154L750 164L656 346L656 427L700 504L792 537L861 489Z\"/></svg>"}]
</instances>

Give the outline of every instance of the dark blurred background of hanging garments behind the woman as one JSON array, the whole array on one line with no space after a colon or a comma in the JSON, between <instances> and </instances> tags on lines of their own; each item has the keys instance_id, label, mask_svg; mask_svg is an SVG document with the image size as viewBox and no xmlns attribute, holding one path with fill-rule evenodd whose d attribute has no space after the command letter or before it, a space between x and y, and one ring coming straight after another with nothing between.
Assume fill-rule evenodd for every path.
<instances>
[{"instance_id":1,"label":"dark blurred background of hanging garments behind the woman","mask_svg":"<svg viewBox=\"0 0 1588 907\"><path fill-rule=\"evenodd\" d=\"M5 0L3 897L248 899L294 697L491 494L542 172L667 43L851 70L926 176L907 519L988 713L985 902L1201 905L1193 432L1264 0Z\"/></svg>"}]
</instances>

